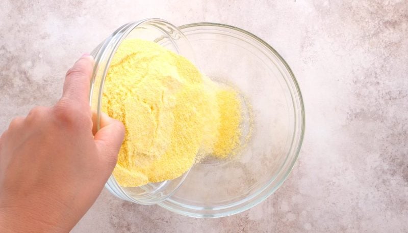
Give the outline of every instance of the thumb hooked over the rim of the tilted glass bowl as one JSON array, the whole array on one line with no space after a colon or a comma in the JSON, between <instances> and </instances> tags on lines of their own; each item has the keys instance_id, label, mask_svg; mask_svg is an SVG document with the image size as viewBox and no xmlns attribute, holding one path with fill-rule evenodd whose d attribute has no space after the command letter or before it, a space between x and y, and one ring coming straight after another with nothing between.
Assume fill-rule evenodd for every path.
<instances>
[{"instance_id":1,"label":"thumb hooked over the rim of the tilted glass bowl","mask_svg":"<svg viewBox=\"0 0 408 233\"><path fill-rule=\"evenodd\" d=\"M96 132L94 140L99 156L103 158L103 161L106 161L112 170L116 164L124 133L124 126L120 121L101 112L100 129Z\"/></svg>"}]
</instances>

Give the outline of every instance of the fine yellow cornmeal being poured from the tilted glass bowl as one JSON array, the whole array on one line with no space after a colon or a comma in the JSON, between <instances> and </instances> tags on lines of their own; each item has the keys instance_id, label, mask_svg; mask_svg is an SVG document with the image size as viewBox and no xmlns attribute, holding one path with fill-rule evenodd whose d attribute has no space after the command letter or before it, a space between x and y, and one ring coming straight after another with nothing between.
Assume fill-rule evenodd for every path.
<instances>
[{"instance_id":1,"label":"fine yellow cornmeal being poured from the tilted glass bowl","mask_svg":"<svg viewBox=\"0 0 408 233\"><path fill-rule=\"evenodd\" d=\"M113 171L123 187L175 179L197 153L226 158L239 145L238 93L154 42L122 42L106 77L102 106L126 129Z\"/></svg>"}]
</instances>

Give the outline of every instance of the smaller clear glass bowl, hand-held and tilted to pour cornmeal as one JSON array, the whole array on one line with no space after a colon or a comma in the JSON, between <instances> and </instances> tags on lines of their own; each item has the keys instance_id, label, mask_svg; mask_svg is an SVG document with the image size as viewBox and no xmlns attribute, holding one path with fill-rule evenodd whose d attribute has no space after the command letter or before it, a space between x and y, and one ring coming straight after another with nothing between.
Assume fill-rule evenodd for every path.
<instances>
[{"instance_id":1,"label":"smaller clear glass bowl, hand-held and tilted to pour cornmeal","mask_svg":"<svg viewBox=\"0 0 408 233\"><path fill-rule=\"evenodd\" d=\"M104 82L111 60L125 38L139 38L154 41L165 48L182 54L190 61L194 56L189 42L180 30L163 19L144 19L130 22L119 27L111 36L100 43L91 55L95 59L95 66L91 79L90 106L97 112L97 129L99 130L101 98L104 92ZM143 205L158 203L170 196L184 181L188 172L183 176L169 181L150 183L140 187L124 188L118 185L111 176L105 187L117 197Z\"/></svg>"}]
</instances>

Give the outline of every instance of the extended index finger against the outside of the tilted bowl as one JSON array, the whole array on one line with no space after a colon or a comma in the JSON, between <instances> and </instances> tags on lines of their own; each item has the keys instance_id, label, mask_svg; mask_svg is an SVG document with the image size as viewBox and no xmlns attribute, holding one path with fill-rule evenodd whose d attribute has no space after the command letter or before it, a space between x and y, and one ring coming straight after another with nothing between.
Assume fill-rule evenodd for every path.
<instances>
[{"instance_id":1,"label":"extended index finger against the outside of the tilted bowl","mask_svg":"<svg viewBox=\"0 0 408 233\"><path fill-rule=\"evenodd\" d=\"M89 85L93 65L93 57L86 54L75 62L65 76L61 100L73 101L81 106L89 105Z\"/></svg>"}]
</instances>

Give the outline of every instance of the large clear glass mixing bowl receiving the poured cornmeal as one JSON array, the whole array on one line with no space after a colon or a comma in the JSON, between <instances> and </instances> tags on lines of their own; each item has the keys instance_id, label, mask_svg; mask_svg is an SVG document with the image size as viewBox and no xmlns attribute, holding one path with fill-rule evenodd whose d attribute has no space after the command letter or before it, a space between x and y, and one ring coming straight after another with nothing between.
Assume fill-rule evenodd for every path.
<instances>
[{"instance_id":1,"label":"large clear glass mixing bowl receiving the poured cornmeal","mask_svg":"<svg viewBox=\"0 0 408 233\"><path fill-rule=\"evenodd\" d=\"M159 206L214 218L257 205L282 185L301 147L303 102L288 64L270 45L240 28L194 23L179 27L195 62L211 79L238 88L252 109L252 136L235 158L195 164Z\"/></svg>"}]
</instances>

